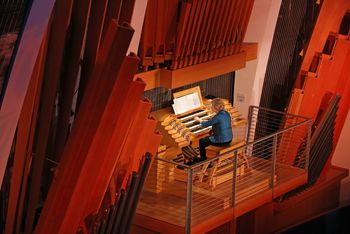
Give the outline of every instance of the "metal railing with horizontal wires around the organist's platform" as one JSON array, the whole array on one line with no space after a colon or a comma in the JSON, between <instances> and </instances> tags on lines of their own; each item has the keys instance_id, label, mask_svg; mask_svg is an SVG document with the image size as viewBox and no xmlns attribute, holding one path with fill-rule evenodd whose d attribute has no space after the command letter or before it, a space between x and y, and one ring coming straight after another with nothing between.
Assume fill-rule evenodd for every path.
<instances>
[{"instance_id":1,"label":"metal railing with horizontal wires around the organist's platform","mask_svg":"<svg viewBox=\"0 0 350 234\"><path fill-rule=\"evenodd\" d=\"M306 182L310 129L310 119L251 106L235 135L245 144L194 165L154 160L137 213L190 233L269 202Z\"/></svg>"}]
</instances>

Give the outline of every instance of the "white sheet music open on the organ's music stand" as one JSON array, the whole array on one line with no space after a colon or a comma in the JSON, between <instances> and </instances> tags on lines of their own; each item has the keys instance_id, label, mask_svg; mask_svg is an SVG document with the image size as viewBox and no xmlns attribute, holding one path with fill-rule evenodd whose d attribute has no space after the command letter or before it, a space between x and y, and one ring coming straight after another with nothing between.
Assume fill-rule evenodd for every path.
<instances>
[{"instance_id":1,"label":"white sheet music open on the organ's music stand","mask_svg":"<svg viewBox=\"0 0 350 234\"><path fill-rule=\"evenodd\" d=\"M199 108L201 102L198 93L190 93L174 99L173 109L176 115Z\"/></svg>"}]
</instances>

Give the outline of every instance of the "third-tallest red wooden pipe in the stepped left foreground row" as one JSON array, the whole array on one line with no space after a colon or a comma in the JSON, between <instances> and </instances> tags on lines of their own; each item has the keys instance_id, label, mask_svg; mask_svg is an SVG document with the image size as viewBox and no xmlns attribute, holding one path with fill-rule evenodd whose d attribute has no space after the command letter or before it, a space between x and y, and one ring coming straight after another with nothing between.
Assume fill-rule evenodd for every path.
<instances>
[{"instance_id":1,"label":"third-tallest red wooden pipe in the stepped left foreground row","mask_svg":"<svg viewBox=\"0 0 350 234\"><path fill-rule=\"evenodd\" d=\"M137 66L137 63L136 63L136 66ZM132 75L130 79L132 79ZM140 98L140 95L142 94L144 87L145 87L145 84L143 82L133 81L127 90L129 94L127 96L128 98L124 98L123 100L119 100L119 101L116 101L116 99L113 98L115 94L112 94L112 97L110 99L110 102L104 114L104 117L105 117L104 119L107 119L107 118L110 119L111 117L112 118L114 117L116 121L114 122L114 124L111 124L111 121L109 123L105 121L101 121L101 125L104 125L104 126L100 127L101 131L103 131L104 133L108 132L108 135L111 137L108 140L103 139L103 137L100 139L97 139L96 141L93 142L92 147L90 148L89 155L88 155L90 160L87 161L86 166L80 176L81 177L80 183L77 184L77 189L80 190L80 192L77 192L73 197L73 199L77 198L76 195L79 195L81 192L85 191L86 193L84 194L86 194L86 199L84 199L83 202L79 200L81 206L77 206L75 209L68 210L66 214L66 222L68 222L68 226L71 225L69 223L71 223L72 218L69 220L68 219L69 217L67 216L69 216L69 213L72 213L72 214L75 213L76 215L77 208L79 208L81 212L80 217L82 222L84 221L85 217L88 217L91 213L96 213L101 207L104 194L109 184L109 178L112 177L115 164L120 157L119 152L123 148L123 144L125 143L126 136L130 131L130 125L137 111L136 104L139 104L137 101ZM122 88L125 89L125 86ZM113 93L116 93L116 91L114 91ZM117 115L113 113L116 106L120 107L123 110L123 113L130 114L128 115L130 116L130 118L123 118L120 115L120 113ZM115 126L115 128L111 128L111 126ZM106 127L107 129L109 129L109 131L106 130ZM98 135L101 135L101 134L97 132L96 136ZM101 152L101 148L98 147L101 144L106 146L102 150L102 152ZM100 155L96 154L96 150L99 151ZM93 174L91 174L90 172L93 172ZM91 185L90 188L86 188L85 184L87 182L90 183ZM75 200L75 201L77 202L78 200Z\"/></svg>"}]
</instances>

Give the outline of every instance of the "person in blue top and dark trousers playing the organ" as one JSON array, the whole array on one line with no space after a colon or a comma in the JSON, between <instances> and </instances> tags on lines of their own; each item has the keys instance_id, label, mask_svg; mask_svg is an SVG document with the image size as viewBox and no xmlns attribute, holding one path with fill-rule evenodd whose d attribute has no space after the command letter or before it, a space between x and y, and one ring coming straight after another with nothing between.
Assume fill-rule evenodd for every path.
<instances>
[{"instance_id":1,"label":"person in blue top and dark trousers playing the organ","mask_svg":"<svg viewBox=\"0 0 350 234\"><path fill-rule=\"evenodd\" d=\"M212 111L215 115L207 121L195 117L203 128L212 126L212 134L199 140L200 160L206 160L205 148L209 145L228 146L232 141L231 115L225 110L225 104L222 99L215 98L212 100Z\"/></svg>"}]
</instances>

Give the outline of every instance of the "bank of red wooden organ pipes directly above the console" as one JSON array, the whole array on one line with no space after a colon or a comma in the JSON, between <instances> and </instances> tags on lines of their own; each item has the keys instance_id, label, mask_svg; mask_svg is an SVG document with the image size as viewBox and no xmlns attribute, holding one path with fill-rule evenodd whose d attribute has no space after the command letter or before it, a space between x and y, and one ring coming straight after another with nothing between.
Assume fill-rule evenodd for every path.
<instances>
[{"instance_id":1,"label":"bank of red wooden organ pipes directly above the console","mask_svg":"<svg viewBox=\"0 0 350 234\"><path fill-rule=\"evenodd\" d=\"M181 69L240 53L253 3L254 0L150 0L140 43L144 70L149 66ZM164 14L169 4L178 4L176 15ZM176 32L168 23L173 21ZM175 33L175 46L168 46L164 38L174 38L169 34Z\"/></svg>"}]
</instances>

